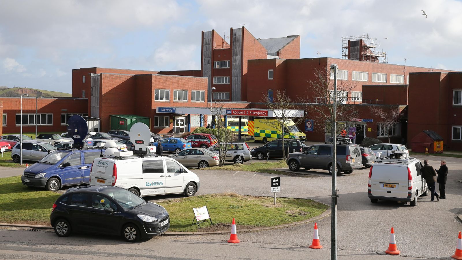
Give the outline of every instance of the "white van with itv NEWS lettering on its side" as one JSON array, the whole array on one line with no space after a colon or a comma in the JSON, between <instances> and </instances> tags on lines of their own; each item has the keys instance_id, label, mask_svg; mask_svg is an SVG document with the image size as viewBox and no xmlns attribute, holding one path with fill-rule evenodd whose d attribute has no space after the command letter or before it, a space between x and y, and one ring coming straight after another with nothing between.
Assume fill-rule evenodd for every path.
<instances>
[{"instance_id":1,"label":"white van with itv NEWS lettering on its side","mask_svg":"<svg viewBox=\"0 0 462 260\"><path fill-rule=\"evenodd\" d=\"M118 186L138 196L174 193L194 196L201 183L195 173L179 162L146 155L96 158L91 165L90 185Z\"/></svg>"}]
</instances>

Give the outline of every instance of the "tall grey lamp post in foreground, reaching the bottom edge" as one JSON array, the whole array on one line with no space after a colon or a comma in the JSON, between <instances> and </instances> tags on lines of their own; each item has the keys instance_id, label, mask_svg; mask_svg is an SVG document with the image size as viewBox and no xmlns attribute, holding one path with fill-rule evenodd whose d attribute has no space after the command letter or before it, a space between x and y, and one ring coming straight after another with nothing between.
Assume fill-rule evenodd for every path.
<instances>
[{"instance_id":1,"label":"tall grey lamp post in foreground, reaching the bottom edge","mask_svg":"<svg viewBox=\"0 0 462 260\"><path fill-rule=\"evenodd\" d=\"M333 161L337 161L337 64L330 65L331 71L334 71L334 111L332 131L332 156ZM330 259L337 260L337 164L332 164L332 212L330 221Z\"/></svg>"}]
</instances>

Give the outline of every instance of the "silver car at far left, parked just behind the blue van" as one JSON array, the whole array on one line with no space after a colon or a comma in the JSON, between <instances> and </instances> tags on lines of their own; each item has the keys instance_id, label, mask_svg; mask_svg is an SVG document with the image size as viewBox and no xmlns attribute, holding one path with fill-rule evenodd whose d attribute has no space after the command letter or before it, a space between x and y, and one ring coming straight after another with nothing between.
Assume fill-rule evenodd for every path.
<instances>
[{"instance_id":1,"label":"silver car at far left, parked just behind the blue van","mask_svg":"<svg viewBox=\"0 0 462 260\"><path fill-rule=\"evenodd\" d=\"M11 150L11 158L13 162L19 163L21 161L20 142L17 142ZM24 141L23 142L23 161L40 161L43 157L47 156L51 151L56 150L56 147L49 142L39 141Z\"/></svg>"}]
</instances>

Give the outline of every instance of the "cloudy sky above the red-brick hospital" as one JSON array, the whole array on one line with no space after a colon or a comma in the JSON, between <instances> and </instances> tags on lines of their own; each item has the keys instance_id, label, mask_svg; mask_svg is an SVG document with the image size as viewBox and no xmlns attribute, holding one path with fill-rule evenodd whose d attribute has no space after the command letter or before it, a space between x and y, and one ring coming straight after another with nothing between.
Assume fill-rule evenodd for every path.
<instances>
[{"instance_id":1,"label":"cloudy sky above the red-brick hospital","mask_svg":"<svg viewBox=\"0 0 462 260\"><path fill-rule=\"evenodd\" d=\"M422 15L425 10L428 18ZM201 68L201 31L301 35L301 57L341 57L369 34L392 64L462 70L460 0L0 0L0 86L71 92L72 69Z\"/></svg>"}]
</instances>

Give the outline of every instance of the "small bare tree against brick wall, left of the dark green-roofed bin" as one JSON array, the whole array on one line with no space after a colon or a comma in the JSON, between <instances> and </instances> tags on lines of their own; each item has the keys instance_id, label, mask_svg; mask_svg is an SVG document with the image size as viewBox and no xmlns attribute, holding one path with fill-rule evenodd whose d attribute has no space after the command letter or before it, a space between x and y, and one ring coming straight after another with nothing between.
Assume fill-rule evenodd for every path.
<instances>
[{"instance_id":1,"label":"small bare tree against brick wall, left of the dark green-roofed bin","mask_svg":"<svg viewBox=\"0 0 462 260\"><path fill-rule=\"evenodd\" d=\"M388 142L390 142L390 132L399 123L399 119L402 116L401 109L399 105L392 106L390 109L384 109L379 106L370 106L371 113L380 118L381 122L377 122L377 125L380 126L380 132L377 133L377 136L388 136Z\"/></svg>"}]
</instances>

